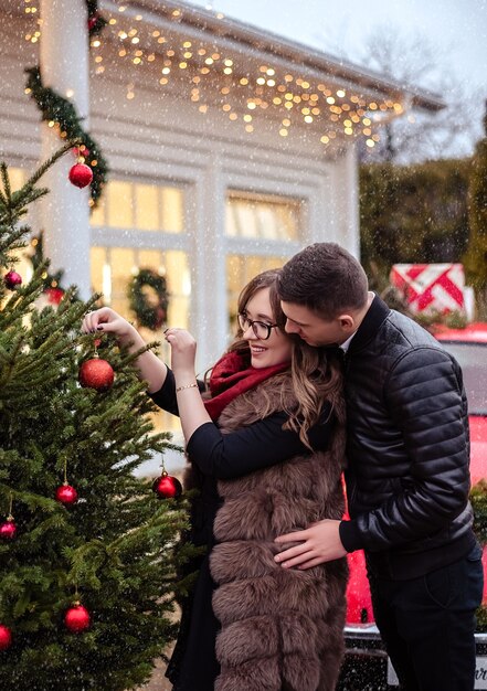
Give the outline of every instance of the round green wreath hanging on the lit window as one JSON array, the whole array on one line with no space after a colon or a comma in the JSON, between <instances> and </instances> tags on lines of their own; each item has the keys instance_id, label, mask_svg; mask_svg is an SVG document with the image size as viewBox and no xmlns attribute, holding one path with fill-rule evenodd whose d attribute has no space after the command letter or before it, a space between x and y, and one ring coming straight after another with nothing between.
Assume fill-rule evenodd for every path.
<instances>
[{"instance_id":1,"label":"round green wreath hanging on the lit window","mask_svg":"<svg viewBox=\"0 0 487 691\"><path fill-rule=\"evenodd\" d=\"M161 328L167 318L169 304L163 276L159 276L150 268L141 268L129 283L128 299L139 326L152 331Z\"/></svg>"}]
</instances>

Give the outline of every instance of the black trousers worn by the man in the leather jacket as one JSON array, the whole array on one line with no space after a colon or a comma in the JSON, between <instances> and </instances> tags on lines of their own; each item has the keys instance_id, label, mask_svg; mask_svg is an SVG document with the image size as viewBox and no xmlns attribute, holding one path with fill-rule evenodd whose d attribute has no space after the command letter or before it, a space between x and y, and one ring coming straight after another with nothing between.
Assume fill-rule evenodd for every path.
<instances>
[{"instance_id":1,"label":"black trousers worn by the man in the leather jacket","mask_svg":"<svg viewBox=\"0 0 487 691\"><path fill-rule=\"evenodd\" d=\"M475 610L484 574L476 545L463 560L411 581L369 570L375 623L403 691L473 691Z\"/></svg>"}]
</instances>

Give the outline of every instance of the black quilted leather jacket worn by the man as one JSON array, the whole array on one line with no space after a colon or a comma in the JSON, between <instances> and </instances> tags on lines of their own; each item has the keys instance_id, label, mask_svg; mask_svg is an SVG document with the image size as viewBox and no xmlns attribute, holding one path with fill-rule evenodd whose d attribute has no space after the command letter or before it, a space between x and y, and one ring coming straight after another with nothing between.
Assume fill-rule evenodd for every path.
<instances>
[{"instance_id":1,"label":"black quilted leather jacket worn by the man","mask_svg":"<svg viewBox=\"0 0 487 691\"><path fill-rule=\"evenodd\" d=\"M462 370L422 327L378 297L346 355L347 551L372 573L412 578L475 544Z\"/></svg>"}]
</instances>

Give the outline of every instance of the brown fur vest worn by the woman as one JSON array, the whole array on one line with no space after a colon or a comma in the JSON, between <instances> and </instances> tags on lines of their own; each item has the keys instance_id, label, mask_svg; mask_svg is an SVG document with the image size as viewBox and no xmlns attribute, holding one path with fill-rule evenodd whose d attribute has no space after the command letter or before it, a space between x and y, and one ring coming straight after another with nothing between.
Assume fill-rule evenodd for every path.
<instances>
[{"instance_id":1,"label":"brown fur vest worn by the woman","mask_svg":"<svg viewBox=\"0 0 487 691\"><path fill-rule=\"evenodd\" d=\"M283 410L283 396L288 406L295 404L289 373L232 401L219 419L222 433ZM222 626L215 691L335 689L343 653L346 560L285 570L274 562L279 551L274 538L342 517L342 410L336 416L329 451L219 481L223 506L210 557L213 609Z\"/></svg>"}]
</instances>

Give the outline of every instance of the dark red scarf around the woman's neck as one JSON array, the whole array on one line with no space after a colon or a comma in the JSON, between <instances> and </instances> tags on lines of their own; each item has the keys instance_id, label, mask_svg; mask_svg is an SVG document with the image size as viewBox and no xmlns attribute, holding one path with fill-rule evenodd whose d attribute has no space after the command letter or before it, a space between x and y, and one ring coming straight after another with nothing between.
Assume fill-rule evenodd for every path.
<instances>
[{"instance_id":1,"label":"dark red scarf around the woman's neck","mask_svg":"<svg viewBox=\"0 0 487 691\"><path fill-rule=\"evenodd\" d=\"M269 368L245 366L245 358L236 351L225 353L213 366L210 375L211 398L204 401L211 419L216 421L223 408L241 393L254 389L269 376L289 369L289 362Z\"/></svg>"}]
</instances>

